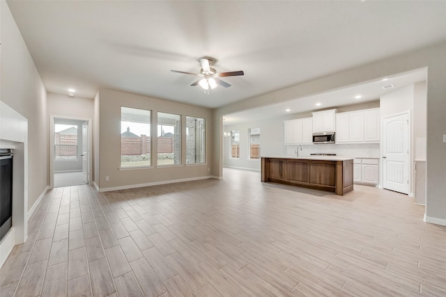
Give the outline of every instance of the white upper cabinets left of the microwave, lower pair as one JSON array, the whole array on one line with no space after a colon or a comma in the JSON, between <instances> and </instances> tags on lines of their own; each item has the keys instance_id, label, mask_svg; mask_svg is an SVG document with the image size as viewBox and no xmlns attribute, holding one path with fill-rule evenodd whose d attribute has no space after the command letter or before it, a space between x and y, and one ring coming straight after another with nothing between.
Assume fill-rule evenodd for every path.
<instances>
[{"instance_id":1,"label":"white upper cabinets left of the microwave, lower pair","mask_svg":"<svg viewBox=\"0 0 446 297\"><path fill-rule=\"evenodd\" d=\"M285 145L313 143L313 119L302 118L284 121Z\"/></svg>"}]
</instances>

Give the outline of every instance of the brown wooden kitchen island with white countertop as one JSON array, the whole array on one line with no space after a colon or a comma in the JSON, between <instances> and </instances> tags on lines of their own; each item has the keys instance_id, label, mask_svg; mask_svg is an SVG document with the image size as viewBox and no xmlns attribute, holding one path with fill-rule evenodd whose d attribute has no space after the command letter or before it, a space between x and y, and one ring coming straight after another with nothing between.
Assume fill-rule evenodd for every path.
<instances>
[{"instance_id":1,"label":"brown wooden kitchen island with white countertop","mask_svg":"<svg viewBox=\"0 0 446 297\"><path fill-rule=\"evenodd\" d=\"M262 156L261 181L344 195L353 191L353 159L339 156Z\"/></svg>"}]
</instances>

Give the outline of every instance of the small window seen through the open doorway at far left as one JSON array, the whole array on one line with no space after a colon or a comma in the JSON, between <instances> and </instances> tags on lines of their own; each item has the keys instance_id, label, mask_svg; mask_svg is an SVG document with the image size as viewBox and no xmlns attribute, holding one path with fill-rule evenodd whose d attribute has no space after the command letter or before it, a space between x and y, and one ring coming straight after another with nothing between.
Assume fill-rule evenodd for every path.
<instances>
[{"instance_id":1,"label":"small window seen through the open doorway at far left","mask_svg":"<svg viewBox=\"0 0 446 297\"><path fill-rule=\"evenodd\" d=\"M77 126L54 124L54 160L77 161Z\"/></svg>"}]
</instances>

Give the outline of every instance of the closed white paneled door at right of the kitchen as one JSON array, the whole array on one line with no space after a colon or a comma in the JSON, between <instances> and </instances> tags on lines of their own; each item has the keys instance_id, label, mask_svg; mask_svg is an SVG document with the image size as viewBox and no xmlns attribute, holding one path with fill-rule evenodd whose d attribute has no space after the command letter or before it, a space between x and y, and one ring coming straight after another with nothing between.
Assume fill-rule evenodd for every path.
<instances>
[{"instance_id":1,"label":"closed white paneled door at right of the kitchen","mask_svg":"<svg viewBox=\"0 0 446 297\"><path fill-rule=\"evenodd\" d=\"M383 188L409 193L409 114L383 118Z\"/></svg>"}]
</instances>

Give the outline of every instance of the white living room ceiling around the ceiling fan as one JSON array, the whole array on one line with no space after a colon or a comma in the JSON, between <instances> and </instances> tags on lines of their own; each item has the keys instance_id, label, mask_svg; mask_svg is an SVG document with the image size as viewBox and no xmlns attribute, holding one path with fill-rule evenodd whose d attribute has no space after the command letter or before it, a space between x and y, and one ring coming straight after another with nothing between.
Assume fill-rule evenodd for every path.
<instances>
[{"instance_id":1,"label":"white living room ceiling around the ceiling fan","mask_svg":"<svg viewBox=\"0 0 446 297\"><path fill-rule=\"evenodd\" d=\"M215 108L446 40L446 1L8 1L49 92ZM197 58L230 88L210 94Z\"/></svg>"}]
</instances>

